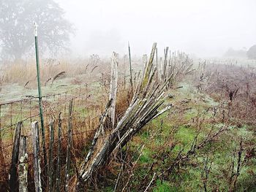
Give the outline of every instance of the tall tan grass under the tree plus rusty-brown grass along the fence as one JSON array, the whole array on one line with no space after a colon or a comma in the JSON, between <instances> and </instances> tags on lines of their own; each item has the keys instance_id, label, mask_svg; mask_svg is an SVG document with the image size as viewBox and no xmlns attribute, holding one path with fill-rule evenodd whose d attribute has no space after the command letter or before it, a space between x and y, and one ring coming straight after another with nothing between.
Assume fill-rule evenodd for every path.
<instances>
[{"instance_id":1,"label":"tall tan grass under the tree plus rusty-brown grass along the fence","mask_svg":"<svg viewBox=\"0 0 256 192\"><path fill-rule=\"evenodd\" d=\"M96 128L99 124L99 116L102 112L102 109L105 107L105 103L108 100L108 90L109 90L109 70L110 67L108 64L104 65L105 63L97 66L93 66L92 64L85 65L85 64L78 64L78 66L74 66L73 64L68 64L67 62L62 62L61 64L57 65L50 65L50 64L44 64L42 65L41 69L41 75L42 75L42 82L48 80L50 77L56 76L58 72L67 71L66 77L75 77L78 74L81 74L81 70L84 69L84 74L86 74L86 79L84 81L86 82L93 82L97 81L97 77L101 78L102 83L99 85L99 90L95 92L95 87L90 87L89 89L82 91L82 97L83 99L75 99L75 110L73 112L73 135L72 135L72 155L71 155L71 162L72 162L72 169L78 168L81 161L83 161L83 157L86 154L86 151L89 150L89 146L91 144L91 139L94 136L94 133L96 131ZM121 67L122 64L120 64ZM79 70L80 69L80 70ZM85 71L87 69L87 71ZM93 70L93 72L91 72ZM99 70L101 72L99 72ZM34 66L34 63L17 63L13 64L11 66L8 66L3 74L4 74L4 83L19 83L20 85L25 84L27 81L33 81L36 85L36 76L31 77L31 75L36 73L36 68ZM78 78L74 78L74 81L78 80ZM49 81L49 83L52 80ZM99 80L98 80L99 81ZM128 83L128 81L127 81ZM118 100L117 100L117 107L116 107L116 115L120 117L122 113L127 109L129 104L129 96L128 96L128 89L129 85L127 87L124 85L122 80L118 82L118 87L120 88L120 91L118 92ZM86 87L88 88L88 87ZM100 91L102 90L102 91ZM94 94L91 95L91 91L94 92ZM75 93L75 96L78 96L78 93ZM86 98L84 98L86 97ZM63 97L62 97L63 99ZM99 102L99 100L102 100ZM45 112L45 129L46 129L46 148L47 151L49 149L49 131L48 131L48 122L50 120L50 117L54 118L54 127L55 127L55 138L57 138L57 126L58 126L58 115L59 112L62 112L62 139L61 139L61 186L64 186L64 168L66 164L66 151L67 151L67 101L63 100L56 100L54 101L56 104L46 104L45 107L48 107L48 112ZM59 104L58 104L59 103ZM86 117L81 117L80 109L85 109ZM39 118L34 119L39 120ZM14 128L15 126L13 126ZM30 126L28 123L26 123L26 126L23 128L23 134L28 135L28 143L29 143L29 190L34 191L34 173L33 173L33 153L31 148L31 134L30 134ZM10 130L11 131L11 130ZM12 131L11 131L12 132ZM42 138L41 138L42 139ZM10 160L12 155L12 137L9 139L4 140L4 144L2 146L10 145L10 147L4 148L4 160L7 162L7 164L4 165L4 167L1 167L1 169L4 169L6 173L9 172L10 169ZM57 139L55 139L54 142L54 148L53 148L53 157L55 158L53 162L54 170L56 170L56 154L57 154ZM41 153L41 166L42 169L44 169L45 165L42 161L42 153ZM7 174L0 174L1 181L0 181L0 189L6 189L8 187L8 176ZM55 174L55 173L54 173ZM75 173L73 172L72 175ZM54 184L55 185L55 184Z\"/></svg>"}]
</instances>

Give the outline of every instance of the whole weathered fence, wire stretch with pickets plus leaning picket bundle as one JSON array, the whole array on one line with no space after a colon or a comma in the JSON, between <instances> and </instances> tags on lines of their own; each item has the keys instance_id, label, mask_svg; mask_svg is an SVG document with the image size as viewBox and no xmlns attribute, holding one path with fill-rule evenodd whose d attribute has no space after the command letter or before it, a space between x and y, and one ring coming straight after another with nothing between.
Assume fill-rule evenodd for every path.
<instances>
[{"instance_id":1,"label":"whole weathered fence, wire stretch with pickets plus leaning picket bundle","mask_svg":"<svg viewBox=\"0 0 256 192\"><path fill-rule=\"evenodd\" d=\"M168 53L168 48L165 49L163 62L162 58L158 60L154 54L157 55L157 45L154 45L149 58L143 55L144 71L137 75L135 73L134 80L132 80L129 54L129 91L134 95L121 120L116 118L118 88L116 53L113 53L111 64L110 94L107 97L109 102L99 118L99 123L94 119L98 119L99 112L103 110L99 104L95 106L95 98L91 98L86 85L42 97L48 164L42 161L42 146L39 142L42 133L39 131L38 123L40 122L38 98L29 96L19 101L0 104L0 179L9 184L10 191L28 191L31 186L34 187L34 191L69 191L71 166L79 181L83 182L88 180L91 172L102 163L96 161L99 163L96 164L91 160L93 156L97 157L95 151L99 150L102 153L100 156L102 159L111 153L111 151L106 153L104 147L94 150L94 147L99 147L96 146L97 141L105 142L105 147L110 146L113 151L128 142L129 138L148 121L169 109L170 106L165 110L157 110L165 101L164 89L170 88L179 74L190 72L192 64L188 55ZM90 98L94 100L92 105L89 105ZM110 129L113 130L111 134L104 134L107 115L110 116L112 127ZM132 120L129 120L130 118ZM94 123L95 121L97 123ZM129 129L130 127L132 128ZM72 159L74 160L75 155L78 155L76 153L83 153L86 139L92 138L93 135L91 148L84 161L84 164L91 169L88 172L88 167L85 169L82 165L78 170ZM111 144L108 144L108 141L112 141ZM4 187L7 188L8 185ZM0 190L1 188L3 187L0 183Z\"/></svg>"}]
</instances>

